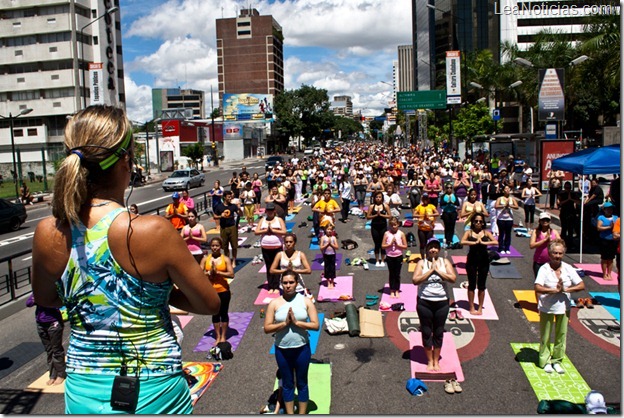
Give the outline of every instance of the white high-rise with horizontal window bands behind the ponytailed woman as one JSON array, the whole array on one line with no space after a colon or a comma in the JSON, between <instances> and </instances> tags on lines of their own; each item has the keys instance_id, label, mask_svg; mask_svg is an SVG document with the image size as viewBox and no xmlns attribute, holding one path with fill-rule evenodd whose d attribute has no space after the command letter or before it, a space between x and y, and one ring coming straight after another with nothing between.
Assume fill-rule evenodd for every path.
<instances>
[{"instance_id":1,"label":"white high-rise with horizontal window bands behind the ponytailed woman","mask_svg":"<svg viewBox=\"0 0 624 418\"><path fill-rule=\"evenodd\" d=\"M4 175L13 158L18 173L43 174L42 158L64 155L67 116L85 105L125 107L118 8L118 0L0 0L0 115L32 109L13 120L15 156L10 120L0 119Z\"/></svg>"}]
</instances>

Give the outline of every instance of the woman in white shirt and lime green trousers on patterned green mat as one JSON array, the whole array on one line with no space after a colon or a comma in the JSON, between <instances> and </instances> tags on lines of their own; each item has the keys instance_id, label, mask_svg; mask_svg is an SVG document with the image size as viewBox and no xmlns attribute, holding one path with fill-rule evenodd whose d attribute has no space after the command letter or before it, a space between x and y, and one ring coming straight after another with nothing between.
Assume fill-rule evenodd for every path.
<instances>
[{"instance_id":1,"label":"woman in white shirt and lime green trousers on patterned green mat","mask_svg":"<svg viewBox=\"0 0 624 418\"><path fill-rule=\"evenodd\" d=\"M556 239L548 244L550 261L540 267L535 279L540 313L540 348L538 367L546 373L564 374L561 362L565 357L568 321L570 318L570 293L585 289L585 283L574 268L563 262L565 241ZM555 325L555 342L550 350L550 332Z\"/></svg>"}]
</instances>

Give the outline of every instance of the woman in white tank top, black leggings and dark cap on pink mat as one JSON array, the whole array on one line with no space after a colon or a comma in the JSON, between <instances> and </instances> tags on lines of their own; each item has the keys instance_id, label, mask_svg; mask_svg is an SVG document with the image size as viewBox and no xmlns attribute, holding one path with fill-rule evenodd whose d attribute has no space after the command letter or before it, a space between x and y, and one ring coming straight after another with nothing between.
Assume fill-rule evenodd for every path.
<instances>
[{"instance_id":1,"label":"woman in white tank top, black leggings and dark cap on pink mat","mask_svg":"<svg viewBox=\"0 0 624 418\"><path fill-rule=\"evenodd\" d=\"M446 283L455 283L457 275L453 264L440 257L440 241L437 238L429 239L425 253L426 258L416 264L412 283L418 286L416 311L427 355L427 371L439 371L444 324L449 312Z\"/></svg>"}]
</instances>

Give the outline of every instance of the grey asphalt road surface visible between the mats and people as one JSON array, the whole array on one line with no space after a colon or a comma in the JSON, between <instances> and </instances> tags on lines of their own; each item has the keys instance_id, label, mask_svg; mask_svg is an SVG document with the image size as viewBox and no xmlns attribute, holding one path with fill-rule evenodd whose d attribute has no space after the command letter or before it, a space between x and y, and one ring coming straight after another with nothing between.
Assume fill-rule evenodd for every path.
<instances>
[{"instance_id":1,"label":"grey asphalt road surface visible between the mats and people","mask_svg":"<svg viewBox=\"0 0 624 418\"><path fill-rule=\"evenodd\" d=\"M231 174L228 171L227 177ZM295 217L298 225L306 221L309 206L304 206ZM520 213L516 213L516 220ZM211 228L213 222L202 219ZM338 223L340 239L351 237L359 243L353 251L342 251L351 259L365 256L372 248L370 231L364 228L364 220L354 219ZM311 225L311 223L309 222ZM299 237L298 248L313 259L318 251L308 249L309 228L294 227ZM457 233L460 233L458 224ZM255 238L246 236L245 244L253 244ZM422 397L409 395L405 382L410 377L409 345L399 332L398 313L385 313L386 337L379 339L351 338L348 335L330 336L322 332L313 359L331 364L331 413L332 414L534 414L538 403L533 389L520 363L514 358L510 343L536 343L539 324L529 322L517 308L514 290L532 289L532 251L528 238L514 237L512 245L525 256L513 263L522 273L517 280L488 278L488 291L499 317L498 320L470 320L461 326L448 323L462 330L454 337L465 381L463 393L448 395L442 383L430 383L429 392ZM416 251L415 248L412 249ZM449 251L451 255L464 255L466 249ZM239 257L251 258L259 249L241 249ZM578 255L567 257L578 261ZM597 263L598 256L589 254L584 261ZM234 358L224 362L224 368L213 385L206 391L195 407L196 414L253 414L257 413L270 395L276 370L275 359L269 354L270 336L262 332L260 306L255 306L258 286L264 275L258 274L261 266L246 265L237 273L232 283L230 312L253 312L254 316L234 352ZM318 294L319 272L306 278L307 285ZM380 291L387 283L385 271L364 271L362 267L341 266L339 275L354 277L356 305L365 302L365 295ZM411 273L403 266L402 283L408 283ZM458 277L458 283L465 276ZM599 285L585 279L588 291L616 291L615 286ZM583 292L577 296L587 296ZM317 303L326 315L343 308L343 303ZM598 312L601 307L595 309ZM589 387L605 394L607 402L621 400L621 362L619 335L607 341L592 333L579 321L588 309L573 309L568 333L567 354ZM403 313L409 318L415 314ZM1 413L61 414L64 403L59 394L32 394L23 392L30 383L45 371L45 358L34 326L34 312L24 309L11 317L0 320L4 338L0 340L0 398ZM196 344L210 326L210 318L195 315L184 329L183 355L185 361L205 361L206 353L194 352ZM67 340L66 331L66 340ZM13 361L13 365L10 362Z\"/></svg>"}]
</instances>

